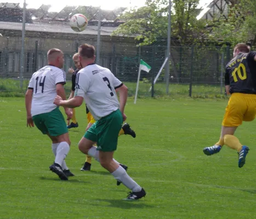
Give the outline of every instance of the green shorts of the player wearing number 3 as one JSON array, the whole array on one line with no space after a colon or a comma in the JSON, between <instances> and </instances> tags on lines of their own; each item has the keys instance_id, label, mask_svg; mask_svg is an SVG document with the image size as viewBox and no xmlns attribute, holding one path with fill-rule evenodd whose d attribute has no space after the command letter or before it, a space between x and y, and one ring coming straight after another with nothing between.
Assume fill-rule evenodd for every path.
<instances>
[{"instance_id":1,"label":"green shorts of the player wearing number 3","mask_svg":"<svg viewBox=\"0 0 256 219\"><path fill-rule=\"evenodd\" d=\"M118 134L122 128L122 123L122 113L120 110L116 110L90 126L84 137L90 141L97 142L98 151L116 151Z\"/></svg>"}]
</instances>

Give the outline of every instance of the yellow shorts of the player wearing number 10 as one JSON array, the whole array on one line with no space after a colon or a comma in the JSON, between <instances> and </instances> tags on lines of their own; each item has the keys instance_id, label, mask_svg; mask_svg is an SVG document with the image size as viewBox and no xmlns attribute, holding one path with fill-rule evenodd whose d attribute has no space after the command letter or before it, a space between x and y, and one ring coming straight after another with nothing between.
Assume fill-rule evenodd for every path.
<instances>
[{"instance_id":1,"label":"yellow shorts of the player wearing number 10","mask_svg":"<svg viewBox=\"0 0 256 219\"><path fill-rule=\"evenodd\" d=\"M223 126L235 127L243 121L251 122L256 115L256 95L233 93L227 103Z\"/></svg>"}]
</instances>

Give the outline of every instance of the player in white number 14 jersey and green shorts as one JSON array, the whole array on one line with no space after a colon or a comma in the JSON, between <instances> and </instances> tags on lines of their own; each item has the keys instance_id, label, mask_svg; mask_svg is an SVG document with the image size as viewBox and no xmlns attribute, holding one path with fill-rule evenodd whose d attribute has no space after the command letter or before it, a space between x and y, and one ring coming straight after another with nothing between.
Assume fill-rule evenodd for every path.
<instances>
[{"instance_id":1,"label":"player in white number 14 jersey and green shorts","mask_svg":"<svg viewBox=\"0 0 256 219\"><path fill-rule=\"evenodd\" d=\"M50 170L61 180L67 180L68 176L73 176L65 162L71 142L65 119L59 107L53 103L56 95L66 99L66 74L60 69L64 64L64 54L59 49L50 49L47 58L48 65L33 73L26 92L27 126L33 127L35 123L44 135L50 137L55 155ZM65 108L65 113L68 119L72 117L69 108Z\"/></svg>"}]
</instances>

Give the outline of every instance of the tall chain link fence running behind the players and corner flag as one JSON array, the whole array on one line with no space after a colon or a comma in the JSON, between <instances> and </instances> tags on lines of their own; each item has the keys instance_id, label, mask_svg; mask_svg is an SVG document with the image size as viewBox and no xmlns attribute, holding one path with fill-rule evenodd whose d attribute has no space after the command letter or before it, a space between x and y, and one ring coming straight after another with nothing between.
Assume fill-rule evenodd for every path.
<instances>
[{"instance_id":1,"label":"tall chain link fence running behind the players and corner flag","mask_svg":"<svg viewBox=\"0 0 256 219\"><path fill-rule=\"evenodd\" d=\"M75 34L74 34L75 35ZM18 36L1 37L0 41L0 93L5 96L24 95L33 72L47 65L47 51L59 48L64 51L64 71L73 65L72 56L82 43L96 48L96 37L82 39L71 38L67 34L61 37L38 35L25 38L24 71L20 75L21 38ZM169 95L193 97L224 96L224 69L230 60L230 48L218 47L171 47ZM129 87L129 96L135 94L136 80L140 60L151 66L149 73L142 71L139 85L140 96L166 95L167 75L163 69L155 85L152 84L166 58L166 45L156 43L138 47L126 38L110 42L101 38L99 65L109 68L113 74ZM167 64L168 65L168 64ZM67 80L71 75L67 73ZM152 86L153 85L153 86ZM149 91L153 87L153 92ZM70 82L67 83L70 90Z\"/></svg>"}]
</instances>

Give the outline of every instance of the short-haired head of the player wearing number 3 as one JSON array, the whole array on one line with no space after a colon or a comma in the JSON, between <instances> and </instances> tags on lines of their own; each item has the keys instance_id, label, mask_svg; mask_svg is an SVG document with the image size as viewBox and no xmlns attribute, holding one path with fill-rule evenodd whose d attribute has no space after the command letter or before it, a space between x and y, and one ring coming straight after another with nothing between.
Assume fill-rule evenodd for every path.
<instances>
[{"instance_id":1,"label":"short-haired head of the player wearing number 3","mask_svg":"<svg viewBox=\"0 0 256 219\"><path fill-rule=\"evenodd\" d=\"M93 45L82 44L78 48L79 61L82 67L93 64L95 61L95 48Z\"/></svg>"}]
</instances>

